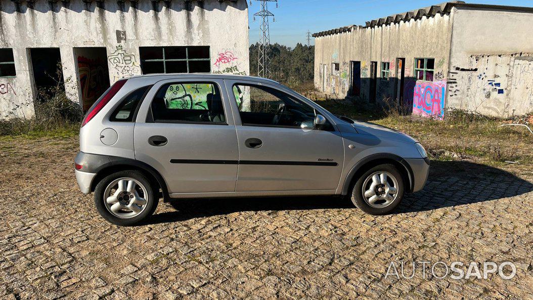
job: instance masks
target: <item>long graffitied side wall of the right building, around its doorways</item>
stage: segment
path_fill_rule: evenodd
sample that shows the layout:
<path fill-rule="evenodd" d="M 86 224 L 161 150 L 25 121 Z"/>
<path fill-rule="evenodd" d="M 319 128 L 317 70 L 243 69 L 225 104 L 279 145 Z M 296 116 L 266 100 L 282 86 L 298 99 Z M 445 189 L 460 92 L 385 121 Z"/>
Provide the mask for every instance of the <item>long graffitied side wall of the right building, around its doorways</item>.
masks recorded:
<path fill-rule="evenodd" d="M 391 78 L 389 80 L 377 79 L 376 100 L 379 102 L 386 98 L 394 98 L 395 60 L 405 58 L 404 101 L 409 103 L 414 101 L 415 106 L 422 105 L 418 102 L 426 101 L 430 103 L 430 109 L 440 115 L 445 105 L 445 96 L 441 93 L 443 86 L 446 91 L 451 26 L 450 15 L 437 14 L 434 17 L 423 17 L 421 20 L 411 19 L 408 22 L 374 28 L 355 27 L 348 33 L 317 37 L 315 39 L 314 84 L 318 90 L 322 90 L 324 78 L 320 66 L 326 64 L 325 92 L 335 98 L 344 98 L 350 85 L 350 61 L 361 61 L 361 95 L 358 100 L 368 102 L 370 62 L 378 63 L 377 77 L 381 71 L 381 62 L 390 62 Z M 414 79 L 415 58 L 435 59 L 435 75 L 439 74 L 435 82 L 417 82 Z M 331 74 L 332 62 L 340 63 L 338 75 Z M 431 91 L 425 93 L 425 90 Z"/>

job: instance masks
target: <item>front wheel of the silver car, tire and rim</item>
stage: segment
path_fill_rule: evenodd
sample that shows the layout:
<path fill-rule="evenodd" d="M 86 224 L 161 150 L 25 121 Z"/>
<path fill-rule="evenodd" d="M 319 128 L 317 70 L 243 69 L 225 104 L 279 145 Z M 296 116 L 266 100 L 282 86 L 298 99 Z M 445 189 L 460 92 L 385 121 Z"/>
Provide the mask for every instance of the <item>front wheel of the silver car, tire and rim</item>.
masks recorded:
<path fill-rule="evenodd" d="M 385 174 L 386 184 L 383 184 L 382 174 Z M 353 185 L 351 200 L 367 214 L 384 215 L 400 204 L 404 192 L 405 186 L 400 171 L 394 165 L 383 164 L 370 168 L 359 177 Z"/>

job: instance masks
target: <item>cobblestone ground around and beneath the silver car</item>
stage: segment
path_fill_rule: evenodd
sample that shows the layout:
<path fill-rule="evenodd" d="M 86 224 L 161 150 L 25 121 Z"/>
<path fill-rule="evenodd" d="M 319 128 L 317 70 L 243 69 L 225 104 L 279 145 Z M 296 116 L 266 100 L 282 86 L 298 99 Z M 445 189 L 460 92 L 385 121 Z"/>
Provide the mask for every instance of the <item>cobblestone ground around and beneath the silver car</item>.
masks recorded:
<path fill-rule="evenodd" d="M 76 186 L 76 139 L 7 143 L 6 299 L 533 298 L 533 184 L 497 168 L 433 162 L 426 188 L 387 216 L 327 197 L 182 200 L 120 228 Z M 511 261 L 516 276 L 385 279 L 391 261 L 406 275 L 413 261 Z"/>

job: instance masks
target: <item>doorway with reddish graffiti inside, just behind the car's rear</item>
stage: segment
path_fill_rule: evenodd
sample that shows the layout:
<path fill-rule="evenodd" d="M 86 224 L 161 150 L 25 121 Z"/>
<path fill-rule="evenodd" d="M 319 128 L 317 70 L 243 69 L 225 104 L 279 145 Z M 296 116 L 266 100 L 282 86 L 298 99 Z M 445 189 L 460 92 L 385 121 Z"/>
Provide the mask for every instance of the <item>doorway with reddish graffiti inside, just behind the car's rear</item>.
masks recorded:
<path fill-rule="evenodd" d="M 87 111 L 93 103 L 109 88 L 109 68 L 106 47 L 74 48 L 76 57 L 79 95 L 83 111 Z"/>

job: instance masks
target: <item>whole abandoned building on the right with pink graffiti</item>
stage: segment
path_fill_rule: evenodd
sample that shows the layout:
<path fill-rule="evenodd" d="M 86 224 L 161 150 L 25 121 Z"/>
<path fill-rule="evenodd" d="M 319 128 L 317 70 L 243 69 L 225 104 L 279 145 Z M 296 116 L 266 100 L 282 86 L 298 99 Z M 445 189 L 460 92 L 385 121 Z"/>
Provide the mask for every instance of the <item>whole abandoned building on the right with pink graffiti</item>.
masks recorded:
<path fill-rule="evenodd" d="M 533 7 L 447 2 L 316 33 L 314 85 L 335 98 L 510 117 L 533 111 Z"/>

